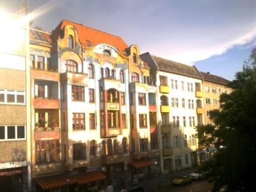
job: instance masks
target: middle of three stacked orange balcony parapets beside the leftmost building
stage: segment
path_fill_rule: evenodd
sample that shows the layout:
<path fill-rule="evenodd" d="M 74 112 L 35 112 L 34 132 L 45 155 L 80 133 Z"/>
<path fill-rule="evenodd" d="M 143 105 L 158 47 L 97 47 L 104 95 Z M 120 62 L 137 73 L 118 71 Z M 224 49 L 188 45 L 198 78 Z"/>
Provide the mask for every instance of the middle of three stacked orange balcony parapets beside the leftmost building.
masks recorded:
<path fill-rule="evenodd" d="M 60 99 L 34 99 L 35 109 L 60 109 Z"/>

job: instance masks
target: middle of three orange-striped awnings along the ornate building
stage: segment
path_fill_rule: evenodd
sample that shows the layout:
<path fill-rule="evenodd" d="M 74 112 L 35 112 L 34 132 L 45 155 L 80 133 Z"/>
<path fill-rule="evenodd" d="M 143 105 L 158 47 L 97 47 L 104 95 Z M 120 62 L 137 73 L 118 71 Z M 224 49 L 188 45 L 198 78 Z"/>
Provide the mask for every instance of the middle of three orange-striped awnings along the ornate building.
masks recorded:
<path fill-rule="evenodd" d="M 77 175 L 73 175 L 73 177 L 79 185 L 87 184 L 96 180 L 104 180 L 107 178 L 98 171 L 78 173 Z"/>

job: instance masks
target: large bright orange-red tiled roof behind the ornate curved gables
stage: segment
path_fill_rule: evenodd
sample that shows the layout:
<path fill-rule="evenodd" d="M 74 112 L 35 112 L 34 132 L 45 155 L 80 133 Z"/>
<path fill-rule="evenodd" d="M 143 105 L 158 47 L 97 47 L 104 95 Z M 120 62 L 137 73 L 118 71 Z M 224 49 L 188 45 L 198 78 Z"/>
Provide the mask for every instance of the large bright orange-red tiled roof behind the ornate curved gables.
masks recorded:
<path fill-rule="evenodd" d="M 83 24 L 77 24 L 69 20 L 62 20 L 56 29 L 52 32 L 54 39 L 58 39 L 61 34 L 61 30 L 67 25 L 72 25 L 77 29 L 79 42 L 86 47 L 95 46 L 97 44 L 109 44 L 118 49 L 118 51 L 124 53 L 128 45 L 120 36 L 111 35 L 97 29 L 83 26 Z"/>

